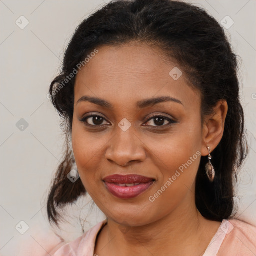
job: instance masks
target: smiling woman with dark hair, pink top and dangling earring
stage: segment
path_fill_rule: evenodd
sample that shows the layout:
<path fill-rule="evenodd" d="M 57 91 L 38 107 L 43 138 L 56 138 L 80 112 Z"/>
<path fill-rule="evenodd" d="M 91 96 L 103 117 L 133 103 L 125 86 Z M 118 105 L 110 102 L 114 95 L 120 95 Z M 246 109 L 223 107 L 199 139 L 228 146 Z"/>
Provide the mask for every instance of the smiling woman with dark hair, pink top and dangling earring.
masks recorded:
<path fill-rule="evenodd" d="M 51 254 L 256 254 L 256 227 L 233 212 L 247 155 L 236 55 L 203 9 L 110 2 L 77 27 L 49 93 L 67 124 L 49 221 L 86 192 L 106 215 Z"/>

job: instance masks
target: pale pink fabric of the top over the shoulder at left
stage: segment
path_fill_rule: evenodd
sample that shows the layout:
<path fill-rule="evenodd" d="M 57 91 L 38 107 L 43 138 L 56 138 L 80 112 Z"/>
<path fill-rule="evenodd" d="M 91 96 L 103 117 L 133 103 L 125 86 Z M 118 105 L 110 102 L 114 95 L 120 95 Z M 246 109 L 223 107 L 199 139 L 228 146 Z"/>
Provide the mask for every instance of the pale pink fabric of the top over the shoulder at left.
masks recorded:
<path fill-rule="evenodd" d="M 75 240 L 64 244 L 59 249 L 53 251 L 53 256 L 86 256 L 93 255 L 96 236 L 99 230 L 107 223 L 107 220 L 103 220 L 90 228 L 80 237 Z"/>

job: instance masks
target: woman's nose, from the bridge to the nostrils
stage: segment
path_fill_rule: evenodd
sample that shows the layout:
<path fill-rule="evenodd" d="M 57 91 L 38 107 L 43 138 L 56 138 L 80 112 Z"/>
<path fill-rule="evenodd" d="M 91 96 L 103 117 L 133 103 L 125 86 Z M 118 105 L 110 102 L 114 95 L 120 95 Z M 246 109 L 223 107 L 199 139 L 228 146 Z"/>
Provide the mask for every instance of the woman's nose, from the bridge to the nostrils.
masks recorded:
<path fill-rule="evenodd" d="M 127 166 L 131 162 L 142 162 L 146 158 L 144 146 L 131 128 L 126 131 L 119 129 L 109 141 L 105 157 L 121 166 Z"/>

